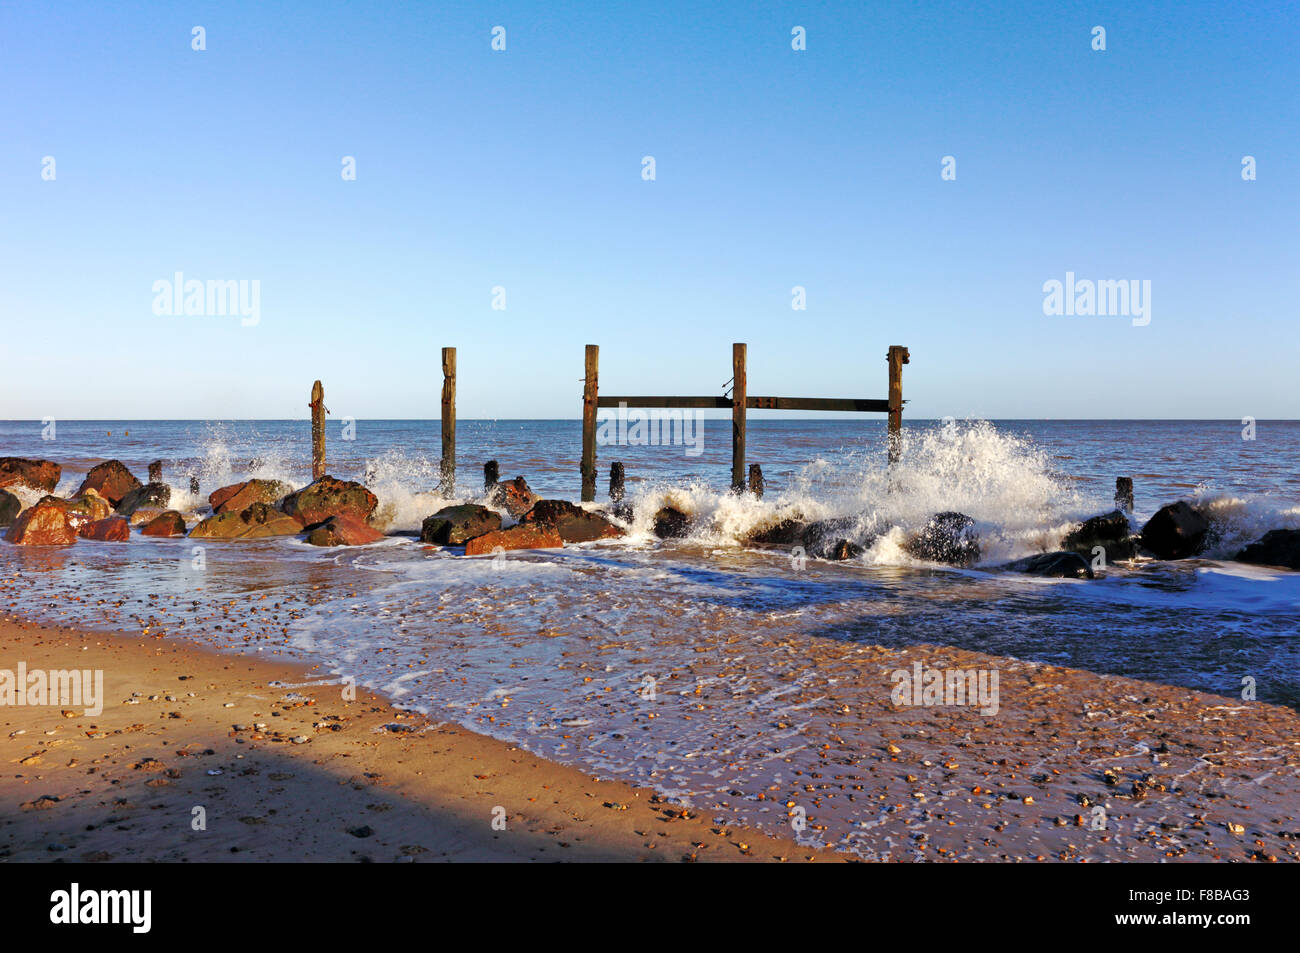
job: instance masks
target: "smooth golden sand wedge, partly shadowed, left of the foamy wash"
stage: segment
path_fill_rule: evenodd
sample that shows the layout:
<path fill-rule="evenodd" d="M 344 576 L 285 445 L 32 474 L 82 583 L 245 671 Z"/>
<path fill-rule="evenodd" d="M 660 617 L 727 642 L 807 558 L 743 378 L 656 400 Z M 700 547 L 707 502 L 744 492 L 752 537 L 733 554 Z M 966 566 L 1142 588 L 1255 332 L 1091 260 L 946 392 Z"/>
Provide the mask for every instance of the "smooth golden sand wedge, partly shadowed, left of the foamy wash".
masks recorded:
<path fill-rule="evenodd" d="M 99 715 L 0 707 L 6 862 L 841 859 L 346 701 L 306 667 L 13 616 L 0 645 L 0 668 L 103 670 L 105 696 Z"/>

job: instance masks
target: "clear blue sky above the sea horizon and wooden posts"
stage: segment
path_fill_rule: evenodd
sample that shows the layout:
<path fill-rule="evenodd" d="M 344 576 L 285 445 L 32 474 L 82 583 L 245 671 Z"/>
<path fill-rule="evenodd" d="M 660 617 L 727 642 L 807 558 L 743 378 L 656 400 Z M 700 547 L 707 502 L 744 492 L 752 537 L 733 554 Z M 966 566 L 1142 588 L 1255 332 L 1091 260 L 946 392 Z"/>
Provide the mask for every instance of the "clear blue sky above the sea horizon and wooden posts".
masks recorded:
<path fill-rule="evenodd" d="M 443 345 L 462 417 L 573 417 L 586 343 L 604 393 L 715 394 L 733 341 L 809 397 L 906 345 L 910 416 L 1300 417 L 1297 10 L 8 0 L 0 419 L 300 417 L 316 377 L 436 417 Z M 153 313 L 176 272 L 259 322 Z M 1066 272 L 1150 322 L 1045 316 Z"/>

